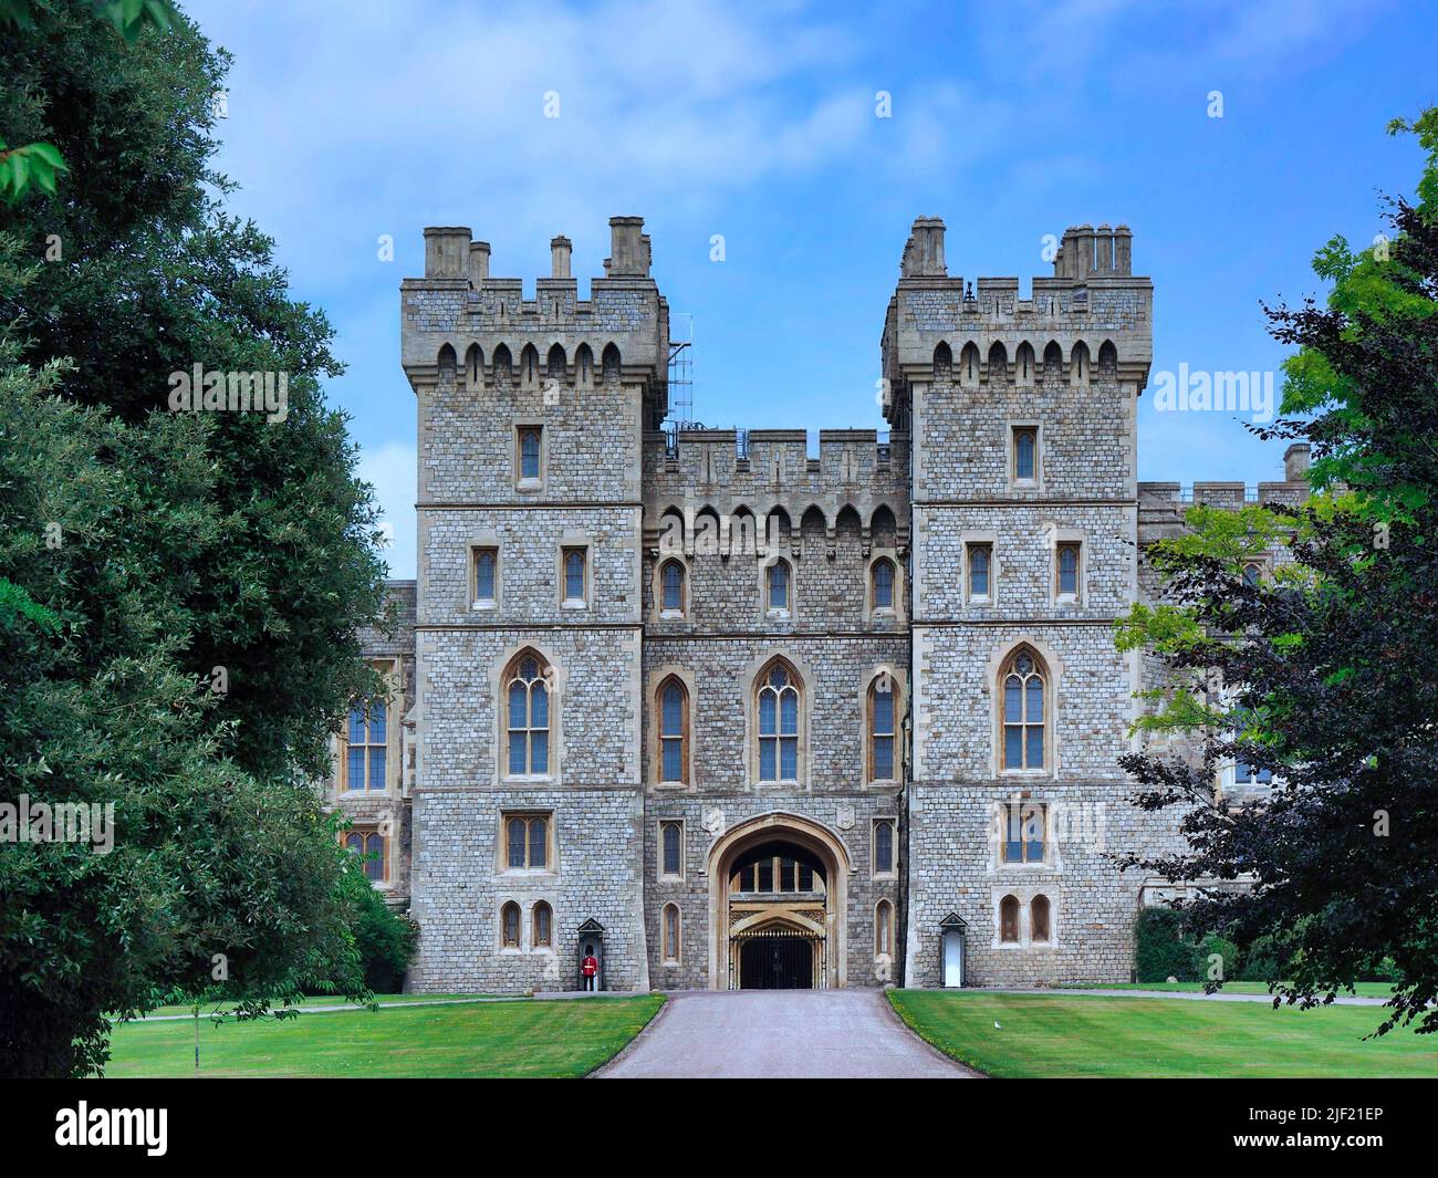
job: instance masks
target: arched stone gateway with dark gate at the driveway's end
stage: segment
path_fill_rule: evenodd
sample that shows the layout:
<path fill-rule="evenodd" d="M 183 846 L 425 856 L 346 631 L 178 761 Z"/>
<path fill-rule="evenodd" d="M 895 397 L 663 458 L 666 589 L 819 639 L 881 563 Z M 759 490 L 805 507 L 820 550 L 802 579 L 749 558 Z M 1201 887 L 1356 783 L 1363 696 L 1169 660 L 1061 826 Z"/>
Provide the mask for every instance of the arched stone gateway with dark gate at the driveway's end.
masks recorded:
<path fill-rule="evenodd" d="M 709 984 L 828 990 L 847 982 L 848 873 L 843 841 L 797 814 L 764 814 L 709 850 Z"/>

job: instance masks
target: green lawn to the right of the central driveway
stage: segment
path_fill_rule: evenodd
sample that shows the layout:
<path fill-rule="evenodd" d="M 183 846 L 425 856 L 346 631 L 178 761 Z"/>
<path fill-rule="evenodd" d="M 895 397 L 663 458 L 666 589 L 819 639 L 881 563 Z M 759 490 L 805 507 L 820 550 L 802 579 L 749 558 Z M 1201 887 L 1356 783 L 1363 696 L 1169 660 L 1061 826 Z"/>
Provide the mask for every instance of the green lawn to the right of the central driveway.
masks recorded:
<path fill-rule="evenodd" d="M 889 997 L 925 1040 L 989 1076 L 1438 1076 L 1438 1036 L 1362 1038 L 1382 1021 L 1378 1007 L 978 990 Z"/>

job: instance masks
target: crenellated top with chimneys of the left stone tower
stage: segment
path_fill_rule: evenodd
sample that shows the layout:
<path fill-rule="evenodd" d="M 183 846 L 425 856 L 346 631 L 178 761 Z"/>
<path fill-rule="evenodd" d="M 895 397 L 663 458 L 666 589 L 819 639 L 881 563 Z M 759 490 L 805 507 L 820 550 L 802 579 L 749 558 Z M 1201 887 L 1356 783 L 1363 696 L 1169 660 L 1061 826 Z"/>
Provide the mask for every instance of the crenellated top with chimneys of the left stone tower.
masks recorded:
<path fill-rule="evenodd" d="M 469 387 L 587 391 L 605 381 L 643 388 L 647 419 L 667 413 L 669 303 L 650 276 L 643 217 L 610 219 L 604 276 L 581 299 L 572 243 L 549 242 L 551 272 L 523 296 L 523 279 L 490 275 L 489 242 L 464 226 L 424 230 L 424 278 L 400 286 L 401 364 L 410 384 L 453 373 Z"/>

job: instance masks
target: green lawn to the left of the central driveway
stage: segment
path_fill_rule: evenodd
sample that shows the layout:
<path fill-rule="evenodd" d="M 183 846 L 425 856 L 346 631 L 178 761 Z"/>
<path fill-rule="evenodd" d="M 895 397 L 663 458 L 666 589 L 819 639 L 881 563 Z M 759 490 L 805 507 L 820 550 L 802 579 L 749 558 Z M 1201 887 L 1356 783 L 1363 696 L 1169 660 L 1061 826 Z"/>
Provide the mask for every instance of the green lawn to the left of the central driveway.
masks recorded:
<path fill-rule="evenodd" d="M 519 1000 L 200 1020 L 201 1076 L 584 1076 L 663 1005 L 634 998 Z M 194 1021 L 115 1028 L 106 1076 L 194 1076 Z"/>

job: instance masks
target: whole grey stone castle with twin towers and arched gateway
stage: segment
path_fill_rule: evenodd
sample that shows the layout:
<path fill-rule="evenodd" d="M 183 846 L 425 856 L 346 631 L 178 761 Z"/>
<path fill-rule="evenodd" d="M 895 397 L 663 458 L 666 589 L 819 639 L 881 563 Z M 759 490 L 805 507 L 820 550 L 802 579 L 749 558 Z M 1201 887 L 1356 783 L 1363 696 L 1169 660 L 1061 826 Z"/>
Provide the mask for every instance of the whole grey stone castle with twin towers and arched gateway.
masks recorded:
<path fill-rule="evenodd" d="M 1129 803 L 1160 667 L 1112 623 L 1185 506 L 1136 479 L 1129 230 L 1070 229 L 1021 298 L 916 220 L 890 432 L 810 457 L 802 430 L 661 429 L 669 305 L 643 222 L 610 227 L 587 301 L 568 239 L 526 299 L 469 229 L 427 229 L 401 285 L 418 580 L 367 636 L 391 696 L 331 788 L 418 922 L 408 985 L 575 990 L 590 951 L 607 990 L 1127 981 L 1171 889 L 1110 854 L 1178 836 Z"/>

